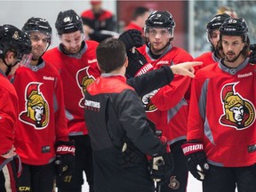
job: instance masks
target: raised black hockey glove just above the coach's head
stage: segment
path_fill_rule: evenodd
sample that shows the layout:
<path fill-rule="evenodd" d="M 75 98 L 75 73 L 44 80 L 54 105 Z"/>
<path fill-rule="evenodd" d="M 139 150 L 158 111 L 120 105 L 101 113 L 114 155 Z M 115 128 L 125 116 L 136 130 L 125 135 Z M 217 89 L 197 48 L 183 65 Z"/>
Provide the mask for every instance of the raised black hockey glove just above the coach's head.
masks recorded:
<path fill-rule="evenodd" d="M 124 43 L 126 52 L 132 50 L 132 47 L 140 47 L 143 45 L 141 32 L 137 29 L 125 31 L 118 39 Z"/>

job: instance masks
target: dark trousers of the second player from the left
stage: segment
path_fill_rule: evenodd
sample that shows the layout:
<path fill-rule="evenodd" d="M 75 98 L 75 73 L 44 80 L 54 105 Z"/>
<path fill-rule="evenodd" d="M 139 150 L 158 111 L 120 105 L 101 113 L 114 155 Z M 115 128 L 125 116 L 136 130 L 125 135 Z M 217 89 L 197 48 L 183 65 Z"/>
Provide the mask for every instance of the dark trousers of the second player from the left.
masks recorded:
<path fill-rule="evenodd" d="M 55 173 L 54 162 L 44 165 L 22 164 L 22 172 L 18 179 L 19 191 L 51 192 Z"/>

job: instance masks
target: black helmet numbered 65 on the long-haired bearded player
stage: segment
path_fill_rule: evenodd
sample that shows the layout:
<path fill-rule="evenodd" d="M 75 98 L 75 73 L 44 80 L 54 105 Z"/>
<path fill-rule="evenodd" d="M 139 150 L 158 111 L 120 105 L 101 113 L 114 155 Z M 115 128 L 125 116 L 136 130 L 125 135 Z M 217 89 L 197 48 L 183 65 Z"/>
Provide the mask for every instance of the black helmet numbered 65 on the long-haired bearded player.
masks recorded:
<path fill-rule="evenodd" d="M 243 18 L 228 18 L 220 27 L 220 36 L 248 36 L 248 26 Z"/>

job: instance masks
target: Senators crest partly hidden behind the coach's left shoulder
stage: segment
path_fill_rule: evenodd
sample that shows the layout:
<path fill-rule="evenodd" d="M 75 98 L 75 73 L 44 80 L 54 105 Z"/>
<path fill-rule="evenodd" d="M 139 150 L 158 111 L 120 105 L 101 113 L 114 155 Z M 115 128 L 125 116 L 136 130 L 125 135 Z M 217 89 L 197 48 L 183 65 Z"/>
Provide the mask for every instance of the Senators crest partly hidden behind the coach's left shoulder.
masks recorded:
<path fill-rule="evenodd" d="M 81 70 L 77 71 L 76 74 L 76 83 L 79 87 L 81 87 L 81 92 L 83 95 L 83 98 L 79 101 L 78 105 L 81 108 L 84 108 L 84 93 L 86 92 L 87 86 L 89 84 L 92 84 L 94 82 L 95 78 L 94 76 L 91 76 L 88 72 L 89 67 L 82 68 Z"/>

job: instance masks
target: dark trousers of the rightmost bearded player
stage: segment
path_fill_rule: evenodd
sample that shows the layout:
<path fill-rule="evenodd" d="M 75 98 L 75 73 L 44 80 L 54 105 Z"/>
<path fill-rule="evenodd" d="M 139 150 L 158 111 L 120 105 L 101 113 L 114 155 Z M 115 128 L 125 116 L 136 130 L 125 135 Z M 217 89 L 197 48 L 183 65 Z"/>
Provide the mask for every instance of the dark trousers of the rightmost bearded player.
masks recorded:
<path fill-rule="evenodd" d="M 203 181 L 204 192 L 256 191 L 256 165 L 246 167 L 218 167 L 210 164 Z"/>

